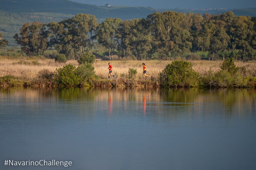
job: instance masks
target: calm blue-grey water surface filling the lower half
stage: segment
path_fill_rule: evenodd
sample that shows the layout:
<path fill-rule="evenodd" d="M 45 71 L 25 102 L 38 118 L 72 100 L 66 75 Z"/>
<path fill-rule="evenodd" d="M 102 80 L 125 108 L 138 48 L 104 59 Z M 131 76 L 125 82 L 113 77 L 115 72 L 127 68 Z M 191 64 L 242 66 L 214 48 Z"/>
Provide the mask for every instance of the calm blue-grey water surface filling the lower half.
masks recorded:
<path fill-rule="evenodd" d="M 255 106 L 254 89 L 0 88 L 0 169 L 255 170 Z"/>

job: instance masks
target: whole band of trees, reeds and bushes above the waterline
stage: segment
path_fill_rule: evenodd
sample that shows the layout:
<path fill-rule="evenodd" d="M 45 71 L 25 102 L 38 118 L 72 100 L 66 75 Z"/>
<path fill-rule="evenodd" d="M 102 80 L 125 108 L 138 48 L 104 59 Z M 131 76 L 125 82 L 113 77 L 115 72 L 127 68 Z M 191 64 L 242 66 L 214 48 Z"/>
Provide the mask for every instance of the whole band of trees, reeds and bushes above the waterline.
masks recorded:
<path fill-rule="evenodd" d="M 13 36 L 20 48 L 0 51 L 1 84 L 254 88 L 255 37 L 256 18 L 233 12 L 155 12 L 101 24 L 80 13 L 58 23 L 24 23 Z M 107 80 L 108 62 L 117 79 Z M 151 76 L 145 81 L 142 62 Z"/>

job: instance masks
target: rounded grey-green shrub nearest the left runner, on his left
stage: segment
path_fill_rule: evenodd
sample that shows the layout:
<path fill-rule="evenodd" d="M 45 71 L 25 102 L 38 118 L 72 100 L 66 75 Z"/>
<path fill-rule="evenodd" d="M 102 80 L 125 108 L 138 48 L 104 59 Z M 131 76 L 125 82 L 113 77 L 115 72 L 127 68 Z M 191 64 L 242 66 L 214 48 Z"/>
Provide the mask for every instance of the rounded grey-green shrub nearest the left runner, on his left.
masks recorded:
<path fill-rule="evenodd" d="M 80 76 L 86 83 L 91 82 L 92 80 L 97 79 L 97 75 L 95 74 L 94 67 L 91 63 L 81 64 L 79 65 L 75 73 Z"/>

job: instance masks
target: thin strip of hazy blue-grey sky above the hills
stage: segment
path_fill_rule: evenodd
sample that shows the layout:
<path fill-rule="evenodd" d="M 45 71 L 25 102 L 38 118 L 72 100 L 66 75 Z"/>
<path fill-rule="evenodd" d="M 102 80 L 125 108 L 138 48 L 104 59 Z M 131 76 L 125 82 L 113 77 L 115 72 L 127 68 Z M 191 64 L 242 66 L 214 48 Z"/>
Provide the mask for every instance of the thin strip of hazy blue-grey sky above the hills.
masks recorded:
<path fill-rule="evenodd" d="M 256 0 L 71 0 L 84 4 L 97 6 L 109 5 L 126 5 L 126 6 L 143 6 L 162 9 L 241 9 L 255 8 Z"/>

